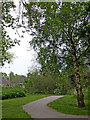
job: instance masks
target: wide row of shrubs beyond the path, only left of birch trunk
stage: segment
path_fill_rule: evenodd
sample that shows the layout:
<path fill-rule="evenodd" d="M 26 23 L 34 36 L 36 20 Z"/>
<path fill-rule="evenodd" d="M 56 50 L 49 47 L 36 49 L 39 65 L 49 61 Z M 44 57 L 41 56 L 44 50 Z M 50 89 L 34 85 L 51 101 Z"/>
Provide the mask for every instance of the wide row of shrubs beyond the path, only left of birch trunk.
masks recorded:
<path fill-rule="evenodd" d="M 31 94 L 66 94 L 69 89 L 69 78 L 63 73 L 52 75 L 32 75 L 25 79 L 25 91 Z"/>

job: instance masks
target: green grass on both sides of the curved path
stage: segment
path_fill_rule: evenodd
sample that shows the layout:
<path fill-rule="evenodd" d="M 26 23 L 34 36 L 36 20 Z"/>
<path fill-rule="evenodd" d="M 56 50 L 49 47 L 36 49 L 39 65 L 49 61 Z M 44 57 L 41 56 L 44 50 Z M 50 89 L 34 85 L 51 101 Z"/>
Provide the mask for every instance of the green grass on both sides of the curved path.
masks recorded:
<path fill-rule="evenodd" d="M 69 92 L 69 94 L 71 93 Z M 76 94 L 64 95 L 64 97 L 53 101 L 48 106 L 65 114 L 88 115 L 88 108 L 90 108 L 90 104 L 88 102 L 89 97 L 87 90 L 84 92 L 84 95 L 85 95 L 84 108 L 78 108 Z M 22 109 L 23 105 L 47 96 L 51 96 L 51 95 L 35 94 L 35 95 L 29 95 L 27 97 L 2 100 L 2 117 L 31 118 L 31 116 L 28 115 Z"/>

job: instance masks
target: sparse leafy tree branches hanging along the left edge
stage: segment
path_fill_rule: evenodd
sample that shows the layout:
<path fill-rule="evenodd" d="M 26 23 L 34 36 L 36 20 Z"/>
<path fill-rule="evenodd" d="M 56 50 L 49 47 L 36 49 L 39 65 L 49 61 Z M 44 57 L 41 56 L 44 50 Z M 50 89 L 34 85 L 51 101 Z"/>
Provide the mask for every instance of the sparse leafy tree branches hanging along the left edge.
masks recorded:
<path fill-rule="evenodd" d="M 3 66 L 5 62 L 10 63 L 14 58 L 8 50 L 19 44 L 18 40 L 12 40 L 7 34 L 7 28 L 12 27 L 14 29 L 15 18 L 11 15 L 11 8 L 15 8 L 12 1 L 0 1 L 0 66 Z"/>

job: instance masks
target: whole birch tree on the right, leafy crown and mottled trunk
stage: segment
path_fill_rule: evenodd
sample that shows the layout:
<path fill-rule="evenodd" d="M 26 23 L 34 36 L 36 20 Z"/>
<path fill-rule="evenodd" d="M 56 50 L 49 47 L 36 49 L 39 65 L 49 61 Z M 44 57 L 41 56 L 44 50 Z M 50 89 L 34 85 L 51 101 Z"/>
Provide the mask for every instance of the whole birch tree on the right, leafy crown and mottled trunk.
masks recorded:
<path fill-rule="evenodd" d="M 68 62 L 70 65 L 69 60 L 72 61 L 76 77 L 78 107 L 84 107 L 79 66 L 87 59 L 89 53 L 90 2 L 62 3 L 62 5 L 59 2 L 23 2 L 23 5 L 26 8 L 23 15 L 28 18 L 28 27 L 33 35 L 30 44 L 40 53 L 42 49 L 44 54 L 57 53 L 60 56 L 59 60 L 64 63 Z M 46 48 L 48 52 L 45 51 Z M 46 57 L 47 60 L 49 58 L 51 57 Z M 41 59 L 41 64 L 43 60 Z"/>

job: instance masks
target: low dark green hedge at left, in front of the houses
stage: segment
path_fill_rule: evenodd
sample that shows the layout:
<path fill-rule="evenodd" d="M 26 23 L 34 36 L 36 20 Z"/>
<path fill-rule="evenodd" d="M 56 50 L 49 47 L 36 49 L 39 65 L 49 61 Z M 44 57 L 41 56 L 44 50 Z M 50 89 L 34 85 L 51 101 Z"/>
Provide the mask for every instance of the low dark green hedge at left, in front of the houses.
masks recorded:
<path fill-rule="evenodd" d="M 25 92 L 21 88 L 3 88 L 2 89 L 2 99 L 25 97 Z"/>

